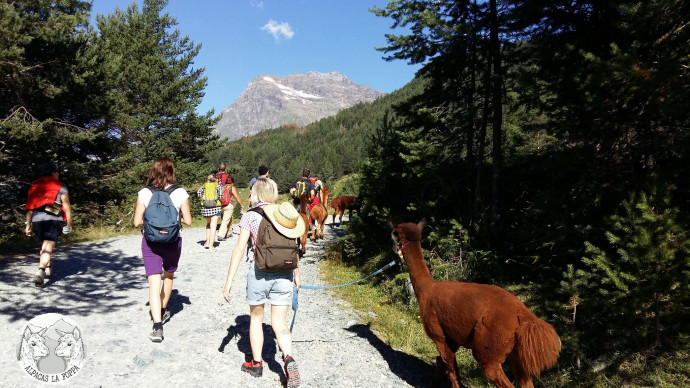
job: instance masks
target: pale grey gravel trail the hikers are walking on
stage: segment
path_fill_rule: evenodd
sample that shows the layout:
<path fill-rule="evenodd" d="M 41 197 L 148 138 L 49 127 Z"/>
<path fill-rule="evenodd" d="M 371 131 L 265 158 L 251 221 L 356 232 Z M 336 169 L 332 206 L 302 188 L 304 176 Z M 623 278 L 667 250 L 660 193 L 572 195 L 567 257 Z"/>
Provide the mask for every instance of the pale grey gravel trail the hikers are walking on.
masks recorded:
<path fill-rule="evenodd" d="M 237 225 L 234 226 L 237 233 Z M 203 228 L 182 230 L 182 258 L 169 304 L 165 340 L 148 339 L 148 287 L 141 236 L 59 245 L 54 273 L 36 288 L 36 257 L 0 259 L 0 377 L 5 387 L 43 386 L 17 362 L 17 344 L 27 322 L 45 313 L 72 319 L 86 347 L 79 372 L 66 382 L 79 387 L 281 387 L 280 350 L 264 320 L 264 373 L 240 371 L 250 353 L 249 309 L 244 301 L 246 270 L 235 278 L 230 303 L 222 287 L 237 234 L 203 248 Z M 303 284 L 320 285 L 318 262 L 342 229 L 326 225 L 326 239 L 309 242 L 301 261 Z M 38 248 L 37 248 L 38 249 Z M 292 312 L 288 321 L 292 319 Z M 302 290 L 293 330 L 294 357 L 304 387 L 420 386 L 430 366 L 390 348 L 347 303 L 329 291 Z"/>

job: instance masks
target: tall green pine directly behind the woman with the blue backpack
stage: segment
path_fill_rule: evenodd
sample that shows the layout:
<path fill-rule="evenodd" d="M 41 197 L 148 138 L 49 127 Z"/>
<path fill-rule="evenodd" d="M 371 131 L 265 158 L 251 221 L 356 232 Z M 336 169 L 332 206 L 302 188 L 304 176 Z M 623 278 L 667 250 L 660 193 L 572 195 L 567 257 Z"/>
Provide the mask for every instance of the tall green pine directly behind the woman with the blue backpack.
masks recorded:
<path fill-rule="evenodd" d="M 141 184 L 150 162 L 167 156 L 176 161 L 179 179 L 191 180 L 200 164 L 222 144 L 212 133 L 213 111 L 195 111 L 207 79 L 194 68 L 201 45 L 174 29 L 174 17 L 163 12 L 166 0 L 145 0 L 127 10 L 97 17 L 92 44 L 102 64 L 99 77 L 103 117 L 99 126 L 114 145 L 102 166 L 111 191 Z M 189 166 L 185 166 L 188 164 Z"/>

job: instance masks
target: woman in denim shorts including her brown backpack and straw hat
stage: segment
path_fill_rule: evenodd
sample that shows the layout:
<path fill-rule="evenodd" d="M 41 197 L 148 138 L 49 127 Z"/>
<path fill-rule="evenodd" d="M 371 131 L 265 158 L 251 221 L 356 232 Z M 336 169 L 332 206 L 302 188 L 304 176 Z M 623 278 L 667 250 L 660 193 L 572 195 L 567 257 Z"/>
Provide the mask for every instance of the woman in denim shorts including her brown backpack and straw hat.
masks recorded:
<path fill-rule="evenodd" d="M 251 237 L 249 250 L 246 301 L 249 304 L 249 343 L 252 358 L 241 370 L 254 377 L 263 374 L 264 305 L 271 306 L 271 326 L 278 347 L 283 352 L 283 370 L 287 388 L 300 384 L 297 363 L 293 358 L 292 334 L 287 325 L 287 313 L 292 305 L 293 284 L 299 289 L 299 250 L 297 238 L 306 225 L 299 213 L 288 203 L 276 205 L 278 185 L 270 178 L 258 178 L 251 190 L 255 207 L 244 213 L 239 222 L 240 235 L 232 251 L 223 297 L 231 299 L 231 288 L 237 268 L 242 261 Z M 272 248 L 278 249 L 272 249 Z M 277 264 L 276 264 L 277 263 Z"/>

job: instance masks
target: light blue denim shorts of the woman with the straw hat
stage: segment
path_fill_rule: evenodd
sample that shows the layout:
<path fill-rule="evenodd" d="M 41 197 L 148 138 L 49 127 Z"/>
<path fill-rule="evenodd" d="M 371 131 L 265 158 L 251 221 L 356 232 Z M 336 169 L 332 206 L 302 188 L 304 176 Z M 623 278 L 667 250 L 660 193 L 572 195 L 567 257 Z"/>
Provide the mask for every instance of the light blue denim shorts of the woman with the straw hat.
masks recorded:
<path fill-rule="evenodd" d="M 292 304 L 292 271 L 266 272 L 251 263 L 247 271 L 247 304 L 269 303 L 275 306 Z"/>

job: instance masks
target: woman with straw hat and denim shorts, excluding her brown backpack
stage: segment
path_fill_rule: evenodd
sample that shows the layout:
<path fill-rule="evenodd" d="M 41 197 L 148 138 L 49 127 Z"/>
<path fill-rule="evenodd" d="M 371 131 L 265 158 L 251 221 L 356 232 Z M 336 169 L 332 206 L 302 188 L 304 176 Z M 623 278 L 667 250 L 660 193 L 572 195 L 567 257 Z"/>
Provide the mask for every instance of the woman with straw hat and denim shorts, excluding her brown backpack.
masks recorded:
<path fill-rule="evenodd" d="M 290 203 L 280 206 L 275 204 L 278 199 L 278 186 L 270 178 L 259 178 L 251 189 L 250 206 L 260 207 L 271 224 L 285 237 L 298 238 L 304 234 L 306 225 L 299 213 Z M 244 213 L 239 222 L 240 236 L 232 251 L 228 276 L 223 287 L 223 297 L 230 301 L 232 280 L 237 267 L 246 250 L 249 237 L 256 246 L 259 225 L 263 217 L 256 212 Z M 251 251 L 250 251 L 251 252 Z M 276 335 L 276 341 L 283 352 L 284 370 L 287 376 L 287 387 L 297 387 L 300 383 L 297 364 L 292 358 L 292 335 L 287 325 L 287 313 L 292 303 L 293 282 L 300 287 L 299 267 L 288 272 L 266 272 L 254 265 L 254 252 L 249 254 L 249 269 L 247 271 L 247 303 L 249 304 L 249 342 L 252 348 L 252 359 L 242 364 L 242 371 L 254 377 L 263 373 L 263 319 L 264 304 L 271 305 L 271 326 Z"/>

